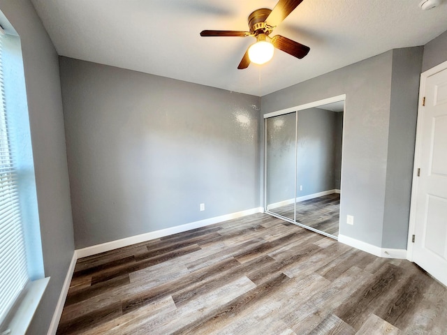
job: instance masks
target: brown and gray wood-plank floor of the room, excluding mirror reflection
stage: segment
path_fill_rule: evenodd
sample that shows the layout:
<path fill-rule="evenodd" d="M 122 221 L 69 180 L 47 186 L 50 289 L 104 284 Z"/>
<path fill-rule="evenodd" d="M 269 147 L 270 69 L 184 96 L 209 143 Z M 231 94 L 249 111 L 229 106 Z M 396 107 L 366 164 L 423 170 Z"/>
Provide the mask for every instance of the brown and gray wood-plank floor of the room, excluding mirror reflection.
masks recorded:
<path fill-rule="evenodd" d="M 254 214 L 78 260 L 57 334 L 447 334 L 447 289 Z"/>

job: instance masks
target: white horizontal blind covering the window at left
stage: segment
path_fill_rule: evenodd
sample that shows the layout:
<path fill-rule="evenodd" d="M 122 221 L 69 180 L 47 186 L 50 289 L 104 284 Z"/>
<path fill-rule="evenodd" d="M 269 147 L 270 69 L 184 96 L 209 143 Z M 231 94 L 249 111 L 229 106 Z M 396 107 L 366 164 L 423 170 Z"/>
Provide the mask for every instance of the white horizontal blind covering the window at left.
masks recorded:
<path fill-rule="evenodd" d="M 0 323 L 28 281 L 14 148 L 8 135 L 3 83 L 3 42 L 0 34 Z"/>

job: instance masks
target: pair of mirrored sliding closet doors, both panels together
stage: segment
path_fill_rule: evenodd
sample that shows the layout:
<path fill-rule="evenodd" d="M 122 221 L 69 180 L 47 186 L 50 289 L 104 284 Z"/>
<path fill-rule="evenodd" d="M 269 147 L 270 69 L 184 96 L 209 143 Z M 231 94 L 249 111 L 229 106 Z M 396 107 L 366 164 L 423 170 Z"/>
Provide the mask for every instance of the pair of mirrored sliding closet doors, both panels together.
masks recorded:
<path fill-rule="evenodd" d="M 265 203 L 269 214 L 337 238 L 343 117 L 344 101 L 266 115 Z"/>

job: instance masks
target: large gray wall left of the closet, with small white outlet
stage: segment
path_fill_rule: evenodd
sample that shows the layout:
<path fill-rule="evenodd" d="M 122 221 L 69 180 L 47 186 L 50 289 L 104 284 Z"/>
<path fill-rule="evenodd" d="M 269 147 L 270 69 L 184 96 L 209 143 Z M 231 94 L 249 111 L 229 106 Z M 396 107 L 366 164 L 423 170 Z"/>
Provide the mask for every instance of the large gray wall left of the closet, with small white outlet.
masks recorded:
<path fill-rule="evenodd" d="M 76 248 L 260 206 L 258 97 L 65 57 L 60 69 Z"/>

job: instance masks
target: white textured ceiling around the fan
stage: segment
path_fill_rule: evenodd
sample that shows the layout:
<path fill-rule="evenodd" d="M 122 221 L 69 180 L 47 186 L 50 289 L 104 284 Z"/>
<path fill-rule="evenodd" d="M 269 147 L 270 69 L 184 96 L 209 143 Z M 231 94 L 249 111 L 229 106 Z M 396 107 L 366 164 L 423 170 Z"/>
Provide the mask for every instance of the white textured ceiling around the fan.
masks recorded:
<path fill-rule="evenodd" d="M 57 52 L 230 91 L 263 96 L 393 48 L 425 45 L 447 30 L 447 1 L 304 0 L 272 36 L 310 47 L 304 59 L 279 50 L 237 70 L 254 38 L 199 36 L 247 30 L 247 17 L 277 0 L 31 0 Z"/>

